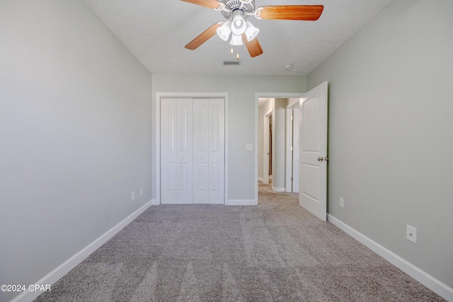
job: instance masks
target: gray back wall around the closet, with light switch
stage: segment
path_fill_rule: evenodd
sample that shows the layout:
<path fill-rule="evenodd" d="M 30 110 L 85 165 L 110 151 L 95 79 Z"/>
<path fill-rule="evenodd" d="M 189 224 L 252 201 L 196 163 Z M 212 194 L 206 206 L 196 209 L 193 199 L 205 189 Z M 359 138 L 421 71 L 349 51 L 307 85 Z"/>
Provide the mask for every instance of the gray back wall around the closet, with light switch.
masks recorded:
<path fill-rule="evenodd" d="M 153 108 L 156 93 L 228 93 L 229 199 L 255 199 L 255 93 L 306 91 L 306 76 L 159 76 L 153 75 Z M 154 110 L 155 112 L 155 110 Z M 157 113 L 156 113 L 157 114 Z M 155 125 L 154 125 L 155 126 Z M 156 151 L 156 127 L 153 129 Z M 253 150 L 256 146 L 253 146 Z M 153 167 L 155 158 L 153 156 Z M 153 168 L 153 177 L 156 171 Z M 153 179 L 153 192 L 156 181 Z M 153 193 L 153 198 L 156 198 Z"/>

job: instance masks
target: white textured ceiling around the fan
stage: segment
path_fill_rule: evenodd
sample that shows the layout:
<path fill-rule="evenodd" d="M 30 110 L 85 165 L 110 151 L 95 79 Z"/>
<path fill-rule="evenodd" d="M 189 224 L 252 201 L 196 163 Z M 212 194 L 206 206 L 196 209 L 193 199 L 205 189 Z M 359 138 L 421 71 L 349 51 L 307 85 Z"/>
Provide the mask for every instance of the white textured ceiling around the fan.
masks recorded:
<path fill-rule="evenodd" d="M 322 4 L 318 21 L 249 21 L 260 29 L 264 53 L 251 58 L 239 47 L 240 66 L 229 42 L 217 35 L 197 48 L 184 45 L 217 21 L 222 13 L 180 0 L 82 0 L 151 74 L 306 75 L 359 30 L 391 0 L 256 0 L 256 6 Z M 285 69 L 292 64 L 291 69 Z"/>

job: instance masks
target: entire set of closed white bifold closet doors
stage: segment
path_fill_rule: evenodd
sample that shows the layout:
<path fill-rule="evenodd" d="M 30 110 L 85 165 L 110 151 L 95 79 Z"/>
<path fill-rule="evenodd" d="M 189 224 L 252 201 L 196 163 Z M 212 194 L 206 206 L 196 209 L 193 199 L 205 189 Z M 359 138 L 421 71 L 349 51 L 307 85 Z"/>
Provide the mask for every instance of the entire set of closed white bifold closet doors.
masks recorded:
<path fill-rule="evenodd" d="M 161 203 L 224 204 L 223 98 L 161 98 Z"/>

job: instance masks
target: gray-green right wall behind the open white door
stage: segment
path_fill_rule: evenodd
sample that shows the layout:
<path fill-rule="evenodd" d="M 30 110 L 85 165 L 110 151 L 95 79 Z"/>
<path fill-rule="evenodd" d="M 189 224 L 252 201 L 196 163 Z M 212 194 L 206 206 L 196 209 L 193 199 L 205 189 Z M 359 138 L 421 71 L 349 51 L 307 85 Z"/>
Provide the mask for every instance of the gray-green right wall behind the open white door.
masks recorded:
<path fill-rule="evenodd" d="M 308 76 L 329 82 L 329 214 L 450 287 L 452 12 L 395 0 Z"/>

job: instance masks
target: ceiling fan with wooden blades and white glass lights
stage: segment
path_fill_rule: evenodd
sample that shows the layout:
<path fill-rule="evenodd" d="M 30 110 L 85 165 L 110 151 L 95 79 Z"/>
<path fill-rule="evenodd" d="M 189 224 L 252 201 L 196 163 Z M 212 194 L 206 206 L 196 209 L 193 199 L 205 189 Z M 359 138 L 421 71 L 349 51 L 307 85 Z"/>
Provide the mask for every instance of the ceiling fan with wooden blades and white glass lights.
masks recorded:
<path fill-rule="evenodd" d="M 221 11 L 226 21 L 214 23 L 200 35 L 185 45 L 188 50 L 196 50 L 216 33 L 227 41 L 230 39 L 231 54 L 233 46 L 245 44 L 251 57 L 263 54 L 256 35 L 259 29 L 247 21 L 250 16 L 265 20 L 316 21 L 321 16 L 322 5 L 275 5 L 255 7 L 255 0 L 181 0 Z M 236 55 L 239 59 L 239 53 Z"/>

